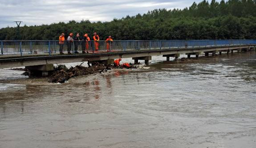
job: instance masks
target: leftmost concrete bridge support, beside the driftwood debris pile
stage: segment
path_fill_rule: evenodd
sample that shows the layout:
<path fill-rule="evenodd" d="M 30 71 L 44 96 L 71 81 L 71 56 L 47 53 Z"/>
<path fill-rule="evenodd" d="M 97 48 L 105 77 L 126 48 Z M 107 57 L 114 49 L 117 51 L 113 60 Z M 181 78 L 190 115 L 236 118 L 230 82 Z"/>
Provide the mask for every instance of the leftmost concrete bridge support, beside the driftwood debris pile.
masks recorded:
<path fill-rule="evenodd" d="M 25 68 L 28 69 L 28 76 L 29 77 L 33 77 L 33 76 L 47 77 L 54 70 L 53 64 L 26 66 Z"/>

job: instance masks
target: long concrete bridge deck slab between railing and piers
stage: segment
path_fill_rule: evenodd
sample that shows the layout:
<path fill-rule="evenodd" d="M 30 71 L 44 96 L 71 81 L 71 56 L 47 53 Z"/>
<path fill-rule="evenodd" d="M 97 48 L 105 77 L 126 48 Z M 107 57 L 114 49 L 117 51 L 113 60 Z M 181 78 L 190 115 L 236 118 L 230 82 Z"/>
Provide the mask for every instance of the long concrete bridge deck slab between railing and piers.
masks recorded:
<path fill-rule="evenodd" d="M 131 57 L 144 57 L 144 56 L 159 56 L 159 55 L 172 55 L 172 54 L 193 54 L 200 52 L 225 52 L 232 50 L 251 49 L 255 48 L 256 44 L 248 45 L 232 45 L 232 46 L 217 46 L 217 47 L 197 47 L 197 48 L 171 48 L 171 49 L 139 49 L 129 51 L 111 51 L 111 52 L 94 52 L 85 54 L 57 54 L 48 53 L 40 54 L 27 54 L 6 55 L 0 56 L 0 68 L 11 68 L 20 66 L 33 66 L 44 64 L 59 64 L 59 63 L 73 63 L 83 61 L 96 61 L 96 60 L 109 60 L 117 58 L 131 58 Z"/>

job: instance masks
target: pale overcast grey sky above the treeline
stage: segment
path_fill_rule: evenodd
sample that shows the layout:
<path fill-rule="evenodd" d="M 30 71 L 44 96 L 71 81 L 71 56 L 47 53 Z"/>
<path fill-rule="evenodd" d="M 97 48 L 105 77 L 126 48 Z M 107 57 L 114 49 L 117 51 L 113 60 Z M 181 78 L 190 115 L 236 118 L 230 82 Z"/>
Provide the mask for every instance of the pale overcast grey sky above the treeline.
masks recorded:
<path fill-rule="evenodd" d="M 158 8 L 185 8 L 194 1 L 202 0 L 0 0 L 0 28 L 16 26 L 13 21 L 23 21 L 21 26 L 69 20 L 110 21 Z"/>

